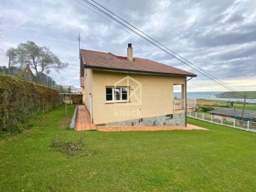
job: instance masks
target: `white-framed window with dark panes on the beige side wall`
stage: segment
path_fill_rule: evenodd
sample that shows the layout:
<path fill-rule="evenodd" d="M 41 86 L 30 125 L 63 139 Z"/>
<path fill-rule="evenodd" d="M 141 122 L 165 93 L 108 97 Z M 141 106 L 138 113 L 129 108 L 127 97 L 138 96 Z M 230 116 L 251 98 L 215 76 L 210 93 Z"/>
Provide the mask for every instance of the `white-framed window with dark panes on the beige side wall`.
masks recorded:
<path fill-rule="evenodd" d="M 127 102 L 128 87 L 106 87 L 106 102 Z"/>

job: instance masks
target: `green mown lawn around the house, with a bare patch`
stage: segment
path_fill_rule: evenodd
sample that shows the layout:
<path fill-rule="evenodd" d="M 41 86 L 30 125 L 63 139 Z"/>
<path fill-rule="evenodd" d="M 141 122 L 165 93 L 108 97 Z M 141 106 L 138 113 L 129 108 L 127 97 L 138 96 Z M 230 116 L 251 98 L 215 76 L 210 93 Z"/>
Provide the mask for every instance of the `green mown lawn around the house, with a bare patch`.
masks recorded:
<path fill-rule="evenodd" d="M 74 107 L 37 116 L 0 140 L 0 191 L 256 191 L 256 134 L 188 119 L 209 131 L 75 132 Z M 53 139 L 82 141 L 68 158 Z"/>

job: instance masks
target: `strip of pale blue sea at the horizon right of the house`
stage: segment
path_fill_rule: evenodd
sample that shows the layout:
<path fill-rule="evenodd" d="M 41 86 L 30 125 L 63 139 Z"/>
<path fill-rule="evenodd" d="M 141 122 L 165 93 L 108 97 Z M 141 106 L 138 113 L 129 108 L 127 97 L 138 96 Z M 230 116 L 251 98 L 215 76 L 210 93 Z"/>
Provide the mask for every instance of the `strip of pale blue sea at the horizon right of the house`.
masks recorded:
<path fill-rule="evenodd" d="M 243 102 L 244 99 L 235 98 L 218 98 L 217 94 L 221 92 L 187 92 L 187 98 L 191 100 L 204 99 L 204 100 L 224 100 L 224 101 L 239 101 Z M 181 98 L 181 92 L 174 92 L 174 97 Z M 256 103 L 256 100 L 247 99 L 246 102 Z"/>

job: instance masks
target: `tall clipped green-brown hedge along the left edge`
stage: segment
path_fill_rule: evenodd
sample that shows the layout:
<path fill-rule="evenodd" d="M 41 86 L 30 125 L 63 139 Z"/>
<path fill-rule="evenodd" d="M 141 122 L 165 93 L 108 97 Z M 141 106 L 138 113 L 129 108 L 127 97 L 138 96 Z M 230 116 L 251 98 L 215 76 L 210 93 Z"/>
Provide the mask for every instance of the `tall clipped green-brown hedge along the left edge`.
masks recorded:
<path fill-rule="evenodd" d="M 0 74 L 0 134 L 21 132 L 34 114 L 60 103 L 58 90 Z"/>

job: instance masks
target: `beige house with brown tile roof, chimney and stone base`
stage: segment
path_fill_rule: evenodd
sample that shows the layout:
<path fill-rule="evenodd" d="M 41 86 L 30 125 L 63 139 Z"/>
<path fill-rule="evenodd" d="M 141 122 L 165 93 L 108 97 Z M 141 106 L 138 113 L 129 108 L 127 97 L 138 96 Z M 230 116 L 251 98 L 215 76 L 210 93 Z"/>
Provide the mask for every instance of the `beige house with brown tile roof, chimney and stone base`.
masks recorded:
<path fill-rule="evenodd" d="M 127 57 L 80 50 L 82 102 L 92 122 L 101 126 L 184 126 L 186 79 L 196 77 L 169 65 L 134 58 L 132 44 Z M 181 98 L 174 100 L 174 86 L 181 87 Z"/>

